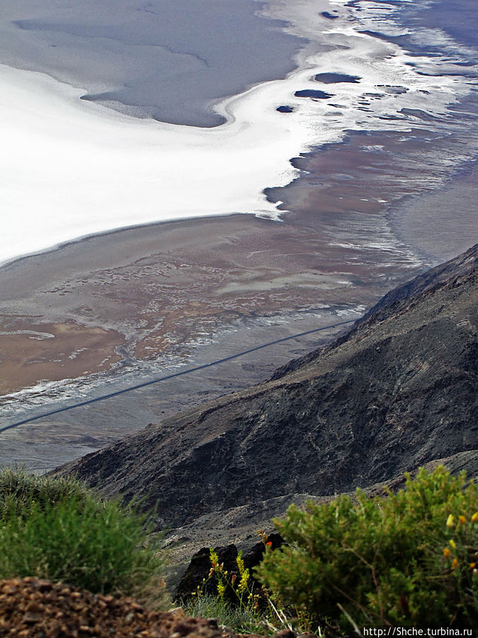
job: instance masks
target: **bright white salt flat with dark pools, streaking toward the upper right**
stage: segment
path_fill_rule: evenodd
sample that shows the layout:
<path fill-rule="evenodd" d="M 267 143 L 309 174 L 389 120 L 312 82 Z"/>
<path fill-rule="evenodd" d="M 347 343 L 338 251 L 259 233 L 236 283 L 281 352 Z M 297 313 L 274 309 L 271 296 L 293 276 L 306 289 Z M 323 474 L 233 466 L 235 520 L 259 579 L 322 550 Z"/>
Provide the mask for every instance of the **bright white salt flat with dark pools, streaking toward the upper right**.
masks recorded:
<path fill-rule="evenodd" d="M 394 130 L 409 130 L 417 118 L 404 109 L 442 117 L 470 91 L 460 75 L 423 74 L 436 67 L 435 58 L 416 56 L 408 65 L 397 45 L 363 33 L 366 18 L 349 20 L 343 2 L 319 8 L 327 7 L 339 7 L 341 19 L 324 20 L 310 0 L 269 6 L 309 44 L 284 79 L 215 103 L 225 119 L 215 128 L 126 116 L 81 100 L 82 87 L 1 67 L 0 261 L 130 225 L 227 213 L 278 216 L 263 189 L 297 177 L 291 157 L 348 129 L 385 130 L 392 121 Z M 331 70 L 360 83 L 329 84 L 327 100 L 295 96 L 317 89 L 314 75 Z M 278 113 L 283 103 L 293 112 Z"/>

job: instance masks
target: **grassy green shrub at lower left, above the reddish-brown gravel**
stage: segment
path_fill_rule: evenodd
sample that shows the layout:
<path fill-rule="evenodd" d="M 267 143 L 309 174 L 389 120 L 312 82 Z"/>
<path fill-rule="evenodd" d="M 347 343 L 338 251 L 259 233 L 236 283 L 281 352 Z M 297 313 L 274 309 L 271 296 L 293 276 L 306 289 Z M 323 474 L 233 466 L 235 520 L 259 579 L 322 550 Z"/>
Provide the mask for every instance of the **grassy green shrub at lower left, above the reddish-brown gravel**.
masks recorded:
<path fill-rule="evenodd" d="M 93 593 L 159 586 L 145 517 L 71 478 L 0 472 L 0 578 L 36 576 Z"/>

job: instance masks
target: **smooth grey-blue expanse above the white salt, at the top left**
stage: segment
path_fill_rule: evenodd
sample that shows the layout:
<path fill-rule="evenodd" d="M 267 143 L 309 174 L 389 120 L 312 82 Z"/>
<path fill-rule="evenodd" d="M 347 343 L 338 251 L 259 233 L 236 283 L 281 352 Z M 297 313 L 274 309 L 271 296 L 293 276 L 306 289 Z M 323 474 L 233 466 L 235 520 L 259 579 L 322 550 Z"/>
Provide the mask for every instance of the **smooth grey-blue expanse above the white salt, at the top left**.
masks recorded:
<path fill-rule="evenodd" d="M 140 118 L 215 126 L 211 103 L 295 67 L 300 39 L 256 0 L 4 0 L 0 62 Z"/>

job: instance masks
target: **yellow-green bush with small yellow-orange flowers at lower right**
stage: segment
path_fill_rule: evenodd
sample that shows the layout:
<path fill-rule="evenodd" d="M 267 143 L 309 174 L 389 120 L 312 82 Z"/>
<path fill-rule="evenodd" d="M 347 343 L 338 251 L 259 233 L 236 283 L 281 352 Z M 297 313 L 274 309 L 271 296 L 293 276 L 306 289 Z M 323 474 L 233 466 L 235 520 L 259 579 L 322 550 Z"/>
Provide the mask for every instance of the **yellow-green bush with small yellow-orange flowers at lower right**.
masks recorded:
<path fill-rule="evenodd" d="M 288 545 L 266 554 L 257 576 L 283 600 L 341 628 L 351 621 L 474 627 L 477 509 L 477 484 L 443 467 L 407 475 L 396 494 L 368 498 L 358 490 L 353 499 L 292 505 L 275 520 Z"/>

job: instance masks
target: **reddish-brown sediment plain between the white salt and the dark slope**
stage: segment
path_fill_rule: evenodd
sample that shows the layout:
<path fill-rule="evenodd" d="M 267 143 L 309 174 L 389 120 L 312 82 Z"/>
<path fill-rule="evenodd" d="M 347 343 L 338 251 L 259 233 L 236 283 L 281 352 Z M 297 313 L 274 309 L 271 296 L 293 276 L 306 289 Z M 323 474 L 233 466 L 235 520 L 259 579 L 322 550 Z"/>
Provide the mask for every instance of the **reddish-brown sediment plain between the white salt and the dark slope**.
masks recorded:
<path fill-rule="evenodd" d="M 231 215 L 161 223 L 7 264 L 0 392 L 185 353 L 238 321 L 370 306 L 465 250 L 476 241 L 470 155 L 478 144 L 467 128 L 476 113 L 463 108 L 456 130 L 449 121 L 431 130 L 414 116 L 408 133 L 351 132 L 296 158 L 306 172 L 268 191 L 290 211 L 280 221 Z M 431 194 L 441 208 L 416 232 L 414 211 Z M 244 347 L 254 345 L 245 337 Z"/>

